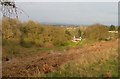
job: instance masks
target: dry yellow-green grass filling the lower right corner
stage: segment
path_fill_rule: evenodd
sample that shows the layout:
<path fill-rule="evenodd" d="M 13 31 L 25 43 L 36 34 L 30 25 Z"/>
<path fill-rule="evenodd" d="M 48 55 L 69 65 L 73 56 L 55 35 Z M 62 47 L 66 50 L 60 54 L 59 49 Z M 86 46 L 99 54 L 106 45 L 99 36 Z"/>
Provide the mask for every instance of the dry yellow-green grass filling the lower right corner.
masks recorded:
<path fill-rule="evenodd" d="M 117 73 L 117 49 L 85 53 L 77 60 L 63 65 L 58 71 L 45 74 L 47 77 L 111 77 Z M 112 64 L 111 64 L 112 63 Z M 104 69 L 105 68 L 105 69 Z"/>

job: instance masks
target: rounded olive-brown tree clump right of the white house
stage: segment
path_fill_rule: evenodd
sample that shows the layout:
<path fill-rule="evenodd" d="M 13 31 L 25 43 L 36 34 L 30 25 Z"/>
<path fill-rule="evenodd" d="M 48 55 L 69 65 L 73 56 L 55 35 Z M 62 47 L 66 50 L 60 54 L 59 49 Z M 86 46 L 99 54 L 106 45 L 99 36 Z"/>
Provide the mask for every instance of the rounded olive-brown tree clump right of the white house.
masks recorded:
<path fill-rule="evenodd" d="M 108 37 L 108 28 L 104 25 L 95 24 L 87 27 L 85 38 L 91 40 L 105 40 Z"/>

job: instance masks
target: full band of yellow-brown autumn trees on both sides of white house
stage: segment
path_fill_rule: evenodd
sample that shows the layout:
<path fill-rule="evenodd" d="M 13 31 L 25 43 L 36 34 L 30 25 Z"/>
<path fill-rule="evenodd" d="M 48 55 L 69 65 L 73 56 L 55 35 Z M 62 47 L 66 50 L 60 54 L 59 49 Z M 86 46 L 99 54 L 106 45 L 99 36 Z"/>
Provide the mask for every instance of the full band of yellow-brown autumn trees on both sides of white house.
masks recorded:
<path fill-rule="evenodd" d="M 113 29 L 113 26 L 112 30 Z M 66 46 L 73 36 L 82 37 L 85 40 L 105 40 L 109 37 L 111 27 L 95 24 L 87 26 L 85 30 L 80 28 L 68 30 L 67 27 L 42 25 L 29 20 L 21 22 L 17 19 L 4 18 L 2 20 L 3 45 L 7 41 L 17 42 L 23 47 L 46 47 Z"/>

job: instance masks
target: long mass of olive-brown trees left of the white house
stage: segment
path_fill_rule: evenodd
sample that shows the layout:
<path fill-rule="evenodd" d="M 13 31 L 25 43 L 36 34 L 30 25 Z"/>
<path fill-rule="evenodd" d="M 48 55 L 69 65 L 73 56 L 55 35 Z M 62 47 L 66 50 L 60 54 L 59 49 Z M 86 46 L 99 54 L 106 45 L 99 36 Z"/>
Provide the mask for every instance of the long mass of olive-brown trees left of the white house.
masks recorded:
<path fill-rule="evenodd" d="M 64 46 L 71 36 L 64 27 L 43 26 L 34 21 L 21 23 L 16 19 L 3 19 L 3 40 L 19 41 L 23 47 Z"/>

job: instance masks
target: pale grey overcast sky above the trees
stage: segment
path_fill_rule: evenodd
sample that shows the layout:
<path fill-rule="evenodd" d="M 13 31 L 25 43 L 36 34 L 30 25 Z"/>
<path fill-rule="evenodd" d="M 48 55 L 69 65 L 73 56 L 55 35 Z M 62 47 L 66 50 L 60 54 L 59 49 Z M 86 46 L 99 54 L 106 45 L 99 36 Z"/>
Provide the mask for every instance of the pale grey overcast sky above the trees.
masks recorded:
<path fill-rule="evenodd" d="M 21 19 L 40 23 L 90 25 L 101 23 L 118 25 L 117 2 L 18 2 L 27 13 Z"/>

